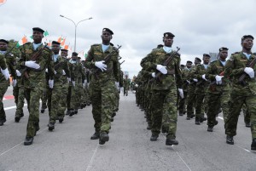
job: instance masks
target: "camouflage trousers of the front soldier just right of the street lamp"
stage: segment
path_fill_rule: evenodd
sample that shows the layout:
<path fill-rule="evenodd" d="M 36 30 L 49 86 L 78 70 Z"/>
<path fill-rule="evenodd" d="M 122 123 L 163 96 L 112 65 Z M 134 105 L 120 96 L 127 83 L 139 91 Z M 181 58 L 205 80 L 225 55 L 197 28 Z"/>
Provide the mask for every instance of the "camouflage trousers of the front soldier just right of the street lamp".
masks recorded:
<path fill-rule="evenodd" d="M 92 105 L 92 115 L 95 121 L 96 132 L 109 132 L 111 128 L 111 117 L 113 114 L 114 88 L 113 82 L 90 83 L 90 100 Z"/>

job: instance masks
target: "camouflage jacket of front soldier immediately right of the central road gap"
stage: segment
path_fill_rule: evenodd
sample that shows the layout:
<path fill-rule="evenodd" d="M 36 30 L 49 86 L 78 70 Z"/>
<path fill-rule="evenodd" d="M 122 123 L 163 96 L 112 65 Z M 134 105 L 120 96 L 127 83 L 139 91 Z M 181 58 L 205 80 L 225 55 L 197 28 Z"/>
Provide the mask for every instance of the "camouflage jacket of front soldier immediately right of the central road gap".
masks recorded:
<path fill-rule="evenodd" d="M 176 53 L 176 52 L 172 52 Z M 163 48 L 155 48 L 145 59 L 142 60 L 141 66 L 146 71 L 154 71 L 157 74 L 159 71 L 156 69 L 157 65 L 163 65 L 169 55 Z M 183 80 L 182 73 L 179 68 L 180 55 L 174 54 L 174 58 L 166 66 L 168 73 L 166 75 L 161 74 L 162 80 L 154 79 L 152 89 L 154 90 L 166 90 L 170 88 L 182 88 Z"/>

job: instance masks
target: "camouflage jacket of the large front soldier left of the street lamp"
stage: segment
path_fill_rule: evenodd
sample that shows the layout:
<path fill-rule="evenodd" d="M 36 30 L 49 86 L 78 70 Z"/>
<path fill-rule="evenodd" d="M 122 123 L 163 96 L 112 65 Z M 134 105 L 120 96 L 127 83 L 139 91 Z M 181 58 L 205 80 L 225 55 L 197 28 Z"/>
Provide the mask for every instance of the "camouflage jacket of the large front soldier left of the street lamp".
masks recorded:
<path fill-rule="evenodd" d="M 39 55 L 36 63 L 40 66 L 39 69 L 35 70 L 32 68 L 26 69 L 25 62 L 32 60 L 32 55 L 36 54 L 39 49 L 43 48 L 44 45 L 41 44 L 37 49 L 33 49 L 32 43 L 26 43 L 20 47 L 20 61 L 18 62 L 21 69 L 22 83 L 25 88 L 41 88 L 44 90 L 45 85 L 45 69 L 48 68 L 49 79 L 53 79 L 54 73 L 54 62 L 52 60 L 52 51 L 49 48 L 44 48 L 43 52 Z M 24 71 L 27 71 L 28 78 L 24 76 Z"/>

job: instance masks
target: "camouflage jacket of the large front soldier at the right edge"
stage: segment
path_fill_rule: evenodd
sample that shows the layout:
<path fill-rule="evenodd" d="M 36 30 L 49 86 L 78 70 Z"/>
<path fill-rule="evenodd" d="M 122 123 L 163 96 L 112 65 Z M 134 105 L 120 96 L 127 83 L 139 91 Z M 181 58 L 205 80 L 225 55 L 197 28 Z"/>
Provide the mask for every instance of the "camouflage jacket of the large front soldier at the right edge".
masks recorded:
<path fill-rule="evenodd" d="M 250 78 L 247 74 L 244 79 L 244 83 L 240 83 L 238 80 L 244 72 L 245 67 L 249 64 L 254 58 L 255 54 L 252 54 L 250 59 L 247 60 L 247 57 L 242 52 L 236 54 L 231 54 L 230 59 L 227 60 L 226 65 L 224 66 L 224 75 L 231 77 L 231 91 L 237 95 L 251 96 L 256 95 L 256 79 L 255 77 Z M 256 70 L 256 65 L 253 66 L 253 70 Z"/>

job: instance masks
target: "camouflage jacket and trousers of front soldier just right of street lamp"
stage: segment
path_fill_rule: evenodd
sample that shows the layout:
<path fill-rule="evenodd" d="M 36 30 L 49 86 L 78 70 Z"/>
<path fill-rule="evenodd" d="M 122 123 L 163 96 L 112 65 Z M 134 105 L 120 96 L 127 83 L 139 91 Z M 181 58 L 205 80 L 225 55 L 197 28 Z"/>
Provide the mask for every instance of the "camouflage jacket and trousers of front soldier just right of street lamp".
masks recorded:
<path fill-rule="evenodd" d="M 113 51 L 113 46 L 103 52 L 102 44 L 94 44 L 90 47 L 85 67 L 98 70 L 96 61 L 104 60 L 104 57 Z M 106 64 L 107 71 L 93 73 L 90 80 L 90 100 L 92 104 L 92 115 L 95 120 L 96 132 L 107 133 L 111 127 L 110 119 L 113 113 L 114 82 L 119 80 L 118 68 L 119 54 L 113 54 L 111 60 Z"/>

